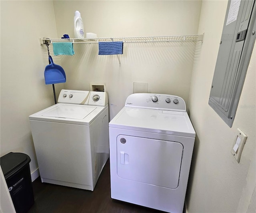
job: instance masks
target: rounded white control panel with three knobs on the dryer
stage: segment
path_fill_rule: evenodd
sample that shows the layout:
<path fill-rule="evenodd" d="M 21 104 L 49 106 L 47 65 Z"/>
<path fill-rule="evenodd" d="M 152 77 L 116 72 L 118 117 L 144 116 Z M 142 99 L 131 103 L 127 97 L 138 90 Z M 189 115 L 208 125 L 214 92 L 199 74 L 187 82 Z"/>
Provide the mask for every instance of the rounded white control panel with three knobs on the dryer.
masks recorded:
<path fill-rule="evenodd" d="M 179 96 L 154 93 L 134 93 L 128 96 L 126 107 L 186 111 L 185 101 Z"/>

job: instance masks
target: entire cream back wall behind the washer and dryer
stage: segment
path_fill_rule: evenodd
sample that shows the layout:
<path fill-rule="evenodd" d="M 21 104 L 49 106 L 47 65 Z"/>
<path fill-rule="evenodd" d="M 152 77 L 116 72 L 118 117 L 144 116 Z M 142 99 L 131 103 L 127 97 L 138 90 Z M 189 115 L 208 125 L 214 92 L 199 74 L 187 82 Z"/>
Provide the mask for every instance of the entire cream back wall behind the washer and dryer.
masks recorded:
<path fill-rule="evenodd" d="M 74 11 L 85 31 L 102 37 L 197 34 L 201 1 L 54 1 L 58 38 L 74 36 Z M 133 92 L 133 82 L 148 83 L 148 92 L 175 94 L 188 101 L 195 42 L 124 43 L 120 55 L 99 56 L 98 44 L 74 44 L 74 56 L 60 56 L 66 89 L 90 90 L 105 83 L 110 119 Z"/>

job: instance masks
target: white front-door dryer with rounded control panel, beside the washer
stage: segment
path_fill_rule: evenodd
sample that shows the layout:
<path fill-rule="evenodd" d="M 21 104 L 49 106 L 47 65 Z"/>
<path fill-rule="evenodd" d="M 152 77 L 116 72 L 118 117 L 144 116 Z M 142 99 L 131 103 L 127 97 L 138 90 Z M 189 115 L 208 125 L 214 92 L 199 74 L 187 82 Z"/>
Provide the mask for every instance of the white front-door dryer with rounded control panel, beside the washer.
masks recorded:
<path fill-rule="evenodd" d="M 195 135 L 182 98 L 128 96 L 109 123 L 111 197 L 182 213 Z"/>

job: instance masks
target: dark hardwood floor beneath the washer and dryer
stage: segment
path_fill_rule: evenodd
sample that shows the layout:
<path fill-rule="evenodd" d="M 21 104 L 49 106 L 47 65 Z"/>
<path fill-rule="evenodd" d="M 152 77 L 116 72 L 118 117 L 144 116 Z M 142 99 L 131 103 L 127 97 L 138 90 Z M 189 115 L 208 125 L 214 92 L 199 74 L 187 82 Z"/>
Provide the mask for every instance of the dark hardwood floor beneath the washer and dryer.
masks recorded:
<path fill-rule="evenodd" d="M 28 213 L 162 213 L 110 197 L 110 166 L 107 161 L 94 191 L 33 183 L 35 203 Z"/>

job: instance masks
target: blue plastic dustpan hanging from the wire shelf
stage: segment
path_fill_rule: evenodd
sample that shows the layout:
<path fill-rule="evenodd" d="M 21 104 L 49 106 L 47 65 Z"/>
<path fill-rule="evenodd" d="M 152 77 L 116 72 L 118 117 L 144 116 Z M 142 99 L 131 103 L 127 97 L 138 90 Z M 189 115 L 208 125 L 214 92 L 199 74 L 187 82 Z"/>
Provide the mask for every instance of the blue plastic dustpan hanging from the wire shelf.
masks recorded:
<path fill-rule="evenodd" d="M 45 67 L 44 80 L 45 84 L 58 84 L 66 82 L 66 74 L 60 65 L 54 64 L 52 56 L 49 56 L 50 64 Z"/>

